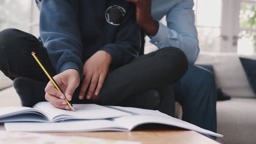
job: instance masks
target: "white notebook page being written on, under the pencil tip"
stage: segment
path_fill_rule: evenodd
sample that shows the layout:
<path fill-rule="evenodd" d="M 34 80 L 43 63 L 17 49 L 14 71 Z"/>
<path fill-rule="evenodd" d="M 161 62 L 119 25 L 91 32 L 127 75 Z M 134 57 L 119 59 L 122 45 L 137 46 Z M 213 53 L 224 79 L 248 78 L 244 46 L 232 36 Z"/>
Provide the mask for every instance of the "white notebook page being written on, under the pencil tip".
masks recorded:
<path fill-rule="evenodd" d="M 63 119 L 104 119 L 130 115 L 129 113 L 109 109 L 96 104 L 73 104 L 75 111 L 67 111 L 55 108 L 49 102 L 40 102 L 34 105 L 40 111 L 47 113 L 51 119 L 62 121 Z"/>

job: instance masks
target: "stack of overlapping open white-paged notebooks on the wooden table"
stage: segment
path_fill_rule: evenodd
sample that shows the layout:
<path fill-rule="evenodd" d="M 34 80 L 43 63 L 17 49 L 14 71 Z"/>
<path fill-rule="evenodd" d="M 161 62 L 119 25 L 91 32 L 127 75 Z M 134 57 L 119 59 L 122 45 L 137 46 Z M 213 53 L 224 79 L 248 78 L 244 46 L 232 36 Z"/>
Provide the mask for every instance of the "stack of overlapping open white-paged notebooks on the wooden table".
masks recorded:
<path fill-rule="evenodd" d="M 78 132 L 130 131 L 142 124 L 165 124 L 223 137 L 159 111 L 120 106 L 74 104 L 75 112 L 56 109 L 48 102 L 29 107 L 0 109 L 0 122 L 7 131 Z"/>

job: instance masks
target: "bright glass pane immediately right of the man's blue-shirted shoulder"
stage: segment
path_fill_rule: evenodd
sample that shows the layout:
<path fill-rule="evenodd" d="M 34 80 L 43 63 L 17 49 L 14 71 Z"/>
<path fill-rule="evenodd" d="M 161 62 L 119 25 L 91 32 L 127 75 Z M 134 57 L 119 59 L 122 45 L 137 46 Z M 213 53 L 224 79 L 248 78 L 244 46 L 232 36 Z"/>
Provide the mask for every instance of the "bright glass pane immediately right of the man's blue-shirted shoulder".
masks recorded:
<path fill-rule="evenodd" d="M 201 51 L 220 52 L 222 0 L 195 0 L 194 3 Z"/>

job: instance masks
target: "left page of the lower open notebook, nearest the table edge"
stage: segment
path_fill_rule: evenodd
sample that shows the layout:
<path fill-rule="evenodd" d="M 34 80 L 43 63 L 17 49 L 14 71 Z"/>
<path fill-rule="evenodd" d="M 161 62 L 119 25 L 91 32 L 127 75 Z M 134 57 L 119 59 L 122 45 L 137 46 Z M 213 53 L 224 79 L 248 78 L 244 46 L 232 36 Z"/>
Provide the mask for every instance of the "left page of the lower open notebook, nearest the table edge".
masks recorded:
<path fill-rule="evenodd" d="M 117 123 L 108 119 L 66 121 L 55 123 L 14 122 L 4 123 L 7 131 L 33 131 L 33 132 L 79 132 L 126 130 Z"/>

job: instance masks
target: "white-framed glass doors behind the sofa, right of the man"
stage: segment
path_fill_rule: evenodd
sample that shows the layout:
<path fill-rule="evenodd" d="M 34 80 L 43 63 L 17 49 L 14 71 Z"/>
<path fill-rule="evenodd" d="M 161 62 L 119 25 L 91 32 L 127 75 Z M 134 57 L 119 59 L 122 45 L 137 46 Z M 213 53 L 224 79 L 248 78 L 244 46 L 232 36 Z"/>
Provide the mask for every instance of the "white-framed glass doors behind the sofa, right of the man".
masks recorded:
<path fill-rule="evenodd" d="M 256 0 L 194 0 L 200 49 L 256 52 Z"/>

